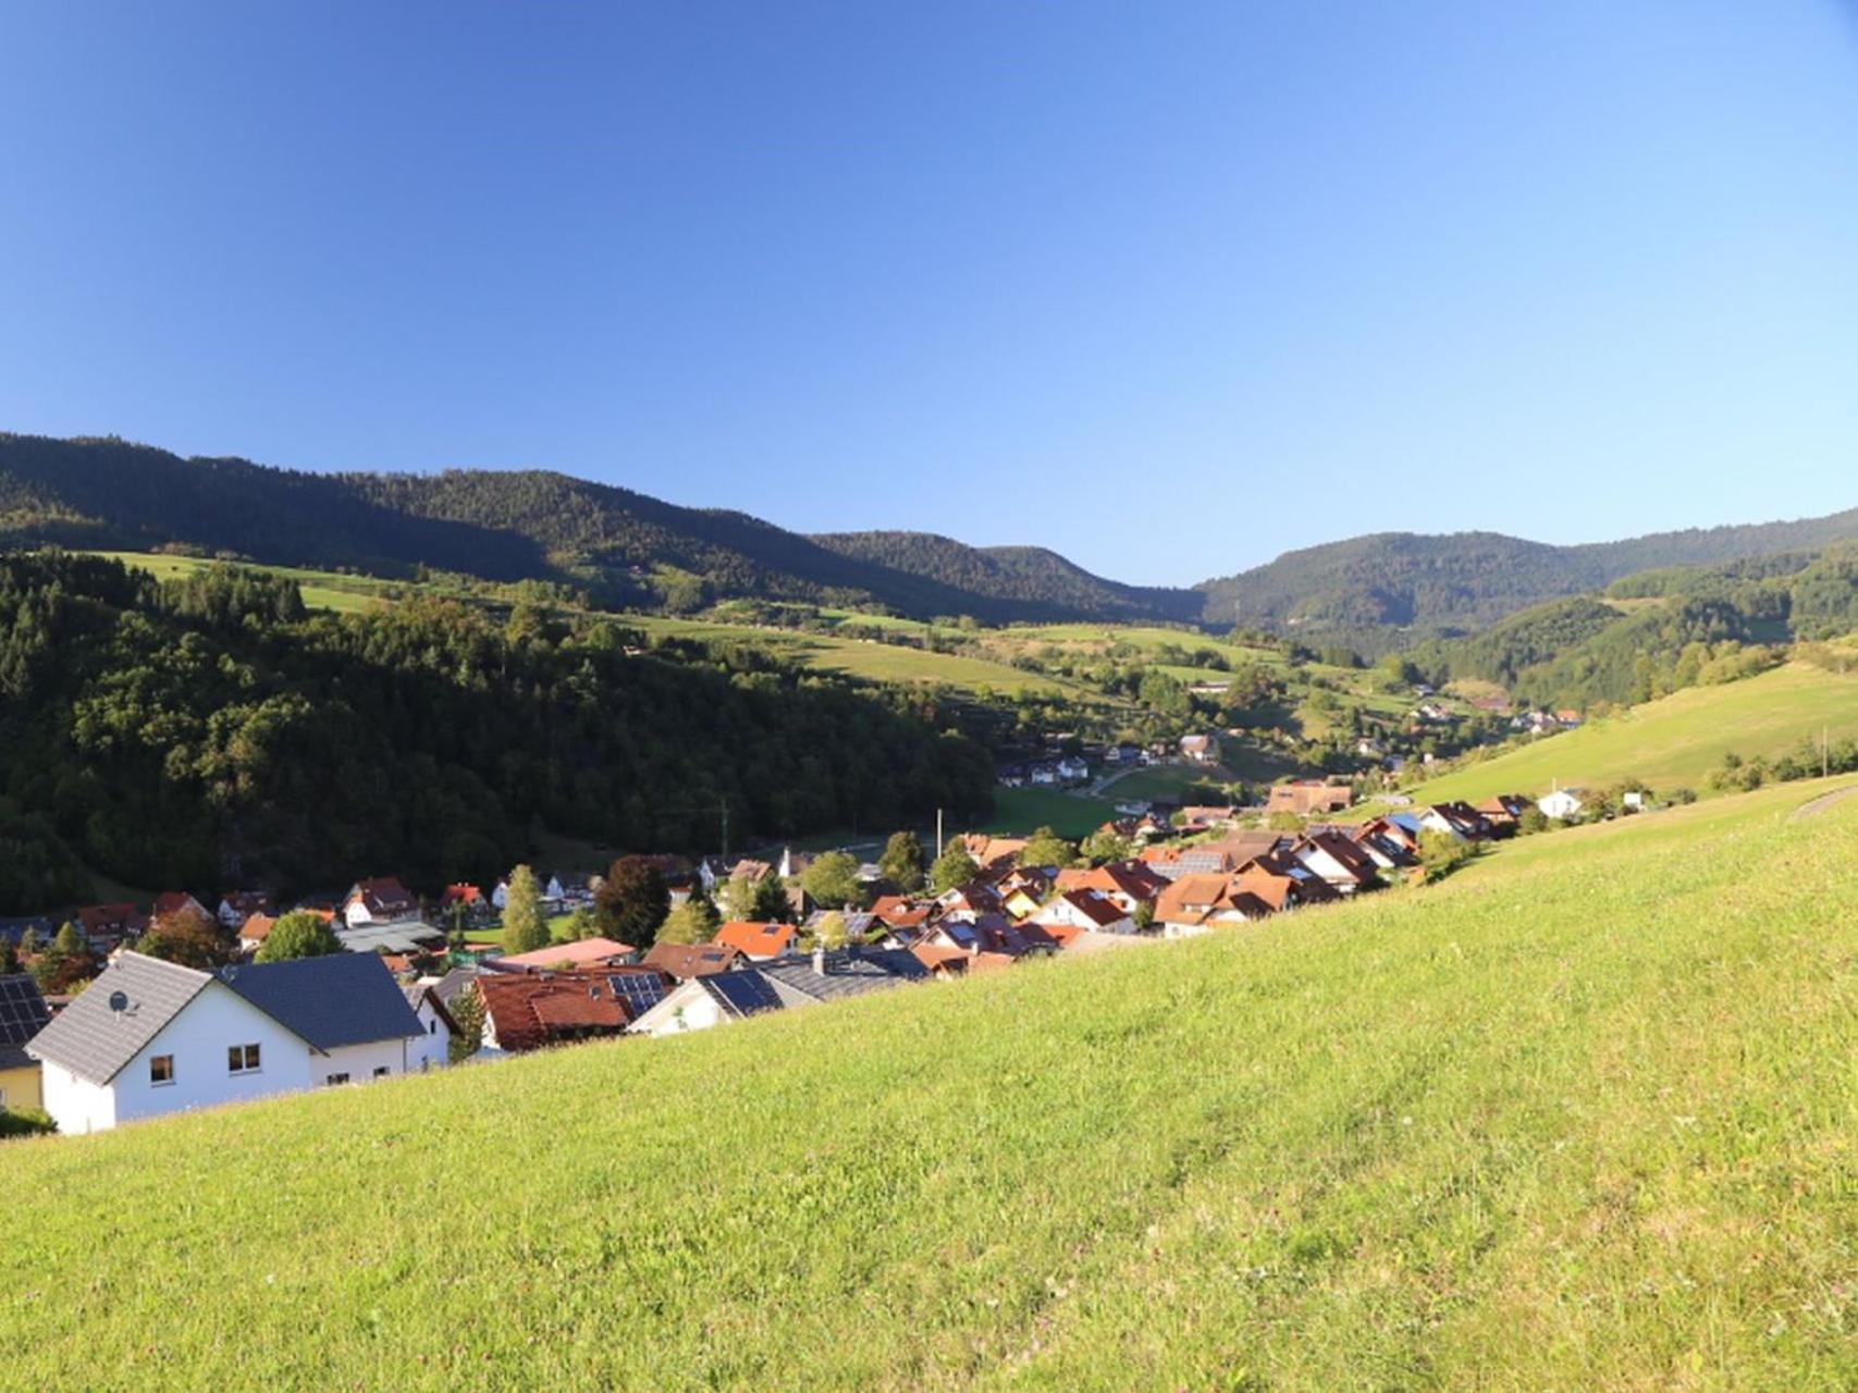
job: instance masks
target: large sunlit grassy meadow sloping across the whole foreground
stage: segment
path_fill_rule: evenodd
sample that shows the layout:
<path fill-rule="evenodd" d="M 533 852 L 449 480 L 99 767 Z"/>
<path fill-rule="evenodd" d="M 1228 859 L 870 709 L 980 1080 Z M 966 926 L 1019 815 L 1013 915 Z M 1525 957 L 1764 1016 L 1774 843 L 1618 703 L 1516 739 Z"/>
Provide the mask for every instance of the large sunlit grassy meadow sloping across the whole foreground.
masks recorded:
<path fill-rule="evenodd" d="M 19 1387 L 1847 1389 L 1858 799 L 6 1148 Z M 936 1048 L 940 1042 L 944 1048 Z"/>

